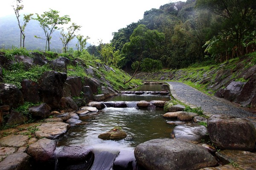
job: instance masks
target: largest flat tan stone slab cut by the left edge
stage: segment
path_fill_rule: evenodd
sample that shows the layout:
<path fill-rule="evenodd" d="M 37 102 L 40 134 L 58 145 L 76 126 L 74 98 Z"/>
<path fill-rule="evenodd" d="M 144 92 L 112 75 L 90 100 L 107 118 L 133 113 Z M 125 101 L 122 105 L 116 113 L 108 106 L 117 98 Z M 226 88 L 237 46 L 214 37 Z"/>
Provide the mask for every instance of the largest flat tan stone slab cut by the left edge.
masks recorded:
<path fill-rule="evenodd" d="M 28 140 L 29 140 L 28 136 L 11 135 L 11 136 L 4 136 L 0 138 L 0 144 L 5 146 L 21 147 L 23 145 L 26 145 Z"/>

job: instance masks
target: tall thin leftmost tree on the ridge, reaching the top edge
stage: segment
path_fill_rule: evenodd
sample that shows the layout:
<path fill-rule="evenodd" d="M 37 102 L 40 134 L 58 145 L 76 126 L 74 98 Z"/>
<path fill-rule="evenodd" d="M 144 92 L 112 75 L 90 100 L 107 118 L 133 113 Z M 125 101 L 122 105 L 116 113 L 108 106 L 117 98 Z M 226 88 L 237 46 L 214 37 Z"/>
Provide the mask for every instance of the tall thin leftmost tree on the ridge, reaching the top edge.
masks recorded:
<path fill-rule="evenodd" d="M 18 26 L 20 28 L 20 48 L 21 48 L 21 40 L 23 39 L 23 48 L 25 47 L 25 27 L 27 26 L 27 24 L 29 23 L 29 21 L 31 20 L 31 17 L 33 14 L 28 14 L 28 15 L 25 15 L 24 14 L 24 17 L 23 17 L 23 23 L 21 23 L 20 21 L 20 10 L 23 9 L 23 5 L 20 4 L 22 2 L 22 0 L 16 0 L 16 6 L 12 6 L 14 11 L 15 11 L 15 15 L 16 15 L 16 18 L 18 20 Z"/>

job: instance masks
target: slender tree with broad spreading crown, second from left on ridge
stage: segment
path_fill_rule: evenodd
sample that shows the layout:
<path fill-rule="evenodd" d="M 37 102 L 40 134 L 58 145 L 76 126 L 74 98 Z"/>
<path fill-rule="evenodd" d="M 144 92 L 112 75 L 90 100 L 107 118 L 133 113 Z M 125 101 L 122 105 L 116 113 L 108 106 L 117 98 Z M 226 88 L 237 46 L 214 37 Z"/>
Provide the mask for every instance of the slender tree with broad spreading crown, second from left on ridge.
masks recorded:
<path fill-rule="evenodd" d="M 34 18 L 35 20 L 39 21 L 40 27 L 44 30 L 46 41 L 48 43 L 48 51 L 50 51 L 50 40 L 52 38 L 52 33 L 61 29 L 61 27 L 58 27 L 58 25 L 63 25 L 70 22 L 70 17 L 68 15 L 60 17 L 58 13 L 59 11 L 50 9 L 50 11 L 44 12 L 44 14 L 41 14 L 41 16 L 36 14 L 37 18 Z M 37 36 L 35 37 L 41 38 Z"/>

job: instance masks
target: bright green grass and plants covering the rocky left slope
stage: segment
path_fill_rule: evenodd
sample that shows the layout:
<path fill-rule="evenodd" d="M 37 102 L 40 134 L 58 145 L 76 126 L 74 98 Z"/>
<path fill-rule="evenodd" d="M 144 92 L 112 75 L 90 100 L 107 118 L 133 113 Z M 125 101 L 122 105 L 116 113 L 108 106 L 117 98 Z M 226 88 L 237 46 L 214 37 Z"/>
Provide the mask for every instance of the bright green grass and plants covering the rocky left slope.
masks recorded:
<path fill-rule="evenodd" d="M 70 54 L 56 54 L 52 51 L 41 52 L 38 50 L 35 51 L 28 51 L 25 48 L 12 48 L 12 49 L 1 49 L 0 52 L 3 52 L 4 56 L 14 61 L 15 55 L 23 55 L 28 57 L 33 57 L 32 52 L 39 53 L 44 55 L 48 60 L 57 59 L 58 57 L 67 57 L 70 60 L 74 60 L 75 58 Z M 125 80 L 129 79 L 130 76 L 125 73 L 124 71 L 104 65 L 99 60 L 90 60 L 85 57 L 79 57 L 79 59 L 84 62 L 84 64 L 77 64 L 77 65 L 67 65 L 67 76 L 74 76 L 74 77 L 88 77 L 93 78 L 90 74 L 86 74 L 86 68 L 93 68 L 93 71 L 96 74 L 95 78 L 102 79 L 103 84 L 108 86 L 106 82 L 109 81 L 110 84 L 113 86 L 115 90 L 123 90 L 132 88 L 134 86 L 142 85 L 143 83 L 138 79 L 132 79 L 131 82 L 127 84 L 123 84 Z M 106 68 L 111 68 L 111 71 L 107 70 Z M 32 68 L 25 69 L 25 66 L 22 62 L 15 62 L 14 64 L 10 65 L 8 68 L 3 68 L 3 82 L 8 84 L 16 85 L 18 88 L 21 88 L 20 83 L 23 79 L 30 79 L 32 81 L 37 82 L 38 79 L 45 71 L 52 70 L 48 64 L 43 66 L 33 66 Z"/>

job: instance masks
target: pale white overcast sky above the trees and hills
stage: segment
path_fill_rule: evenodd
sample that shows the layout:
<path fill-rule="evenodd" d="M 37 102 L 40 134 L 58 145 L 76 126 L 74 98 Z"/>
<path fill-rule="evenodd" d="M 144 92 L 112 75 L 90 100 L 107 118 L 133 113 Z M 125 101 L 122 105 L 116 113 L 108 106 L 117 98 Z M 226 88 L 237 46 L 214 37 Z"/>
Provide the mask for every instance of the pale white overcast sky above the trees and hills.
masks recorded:
<path fill-rule="evenodd" d="M 178 0 L 23 0 L 24 14 L 59 11 L 60 16 L 69 15 L 70 23 L 82 26 L 79 33 L 89 36 L 88 42 L 97 44 L 112 40 L 112 32 L 124 28 L 132 22 L 143 19 L 145 11 Z M 183 0 L 185 1 L 185 0 Z M 15 16 L 12 5 L 15 0 L 1 0 L 0 17 Z"/>

